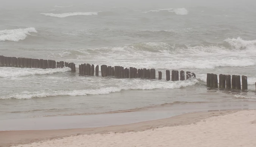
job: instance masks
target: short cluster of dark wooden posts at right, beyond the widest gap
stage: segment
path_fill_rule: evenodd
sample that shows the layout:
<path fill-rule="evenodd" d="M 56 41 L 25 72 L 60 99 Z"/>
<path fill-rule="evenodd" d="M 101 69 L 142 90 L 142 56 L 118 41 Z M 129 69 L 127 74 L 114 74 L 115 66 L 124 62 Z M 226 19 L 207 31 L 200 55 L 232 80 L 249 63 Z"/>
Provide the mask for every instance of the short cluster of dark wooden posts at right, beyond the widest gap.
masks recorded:
<path fill-rule="evenodd" d="M 218 76 L 216 74 L 207 74 L 207 87 L 218 88 Z M 220 89 L 237 89 L 241 90 L 240 75 L 219 75 L 219 88 Z M 247 76 L 242 76 L 242 90 L 248 90 Z"/>

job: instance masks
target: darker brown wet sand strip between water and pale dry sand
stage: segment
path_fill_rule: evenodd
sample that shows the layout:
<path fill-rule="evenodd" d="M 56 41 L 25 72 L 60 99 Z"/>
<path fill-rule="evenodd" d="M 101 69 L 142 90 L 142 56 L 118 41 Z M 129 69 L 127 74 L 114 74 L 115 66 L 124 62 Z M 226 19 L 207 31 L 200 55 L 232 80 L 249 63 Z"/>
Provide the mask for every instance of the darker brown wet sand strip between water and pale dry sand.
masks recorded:
<path fill-rule="evenodd" d="M 131 124 L 95 128 L 0 131 L 0 142 L 2 142 L 0 144 L 0 147 L 18 144 L 28 144 L 32 142 L 39 142 L 48 139 L 58 139 L 75 135 L 106 134 L 109 132 L 140 132 L 162 127 L 183 126 L 199 122 L 205 118 L 231 114 L 242 110 L 248 109 L 210 110 L 207 112 L 193 112 L 153 121 L 143 121 Z"/>

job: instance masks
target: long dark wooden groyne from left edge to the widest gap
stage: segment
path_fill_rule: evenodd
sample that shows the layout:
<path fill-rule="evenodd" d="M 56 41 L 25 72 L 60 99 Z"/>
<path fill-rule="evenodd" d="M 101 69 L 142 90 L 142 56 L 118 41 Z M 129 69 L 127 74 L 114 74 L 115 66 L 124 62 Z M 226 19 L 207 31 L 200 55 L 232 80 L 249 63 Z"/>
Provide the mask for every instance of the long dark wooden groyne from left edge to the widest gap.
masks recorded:
<path fill-rule="evenodd" d="M 71 71 L 76 72 L 76 66 L 74 63 L 68 63 L 64 61 L 44 60 L 44 59 L 32 59 L 32 58 L 16 58 L 5 57 L 0 55 L 0 67 L 20 67 L 20 68 L 40 68 L 40 69 L 55 69 L 69 67 Z M 125 68 L 122 66 L 107 66 L 101 65 L 101 77 L 115 77 L 115 78 L 141 78 L 141 79 L 156 79 L 155 69 L 137 69 L 135 67 Z M 185 72 L 181 70 L 166 70 L 167 81 L 183 81 L 189 78 L 195 78 L 195 74 L 191 72 Z M 179 77 L 180 73 L 180 77 Z M 99 66 L 94 64 L 80 64 L 79 74 L 86 76 L 99 76 Z M 158 80 L 162 80 L 162 72 L 158 71 Z"/>

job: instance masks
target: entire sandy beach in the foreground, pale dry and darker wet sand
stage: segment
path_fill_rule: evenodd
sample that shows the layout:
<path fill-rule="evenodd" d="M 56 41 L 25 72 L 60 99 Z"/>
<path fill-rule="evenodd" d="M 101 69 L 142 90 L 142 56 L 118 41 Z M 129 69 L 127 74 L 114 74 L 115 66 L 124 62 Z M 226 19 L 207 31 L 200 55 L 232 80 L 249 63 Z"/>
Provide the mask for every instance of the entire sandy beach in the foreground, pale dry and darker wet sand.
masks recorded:
<path fill-rule="evenodd" d="M 91 129 L 0 132 L 3 146 L 34 142 L 18 147 L 256 147 L 255 138 L 256 110 L 189 113 Z"/>

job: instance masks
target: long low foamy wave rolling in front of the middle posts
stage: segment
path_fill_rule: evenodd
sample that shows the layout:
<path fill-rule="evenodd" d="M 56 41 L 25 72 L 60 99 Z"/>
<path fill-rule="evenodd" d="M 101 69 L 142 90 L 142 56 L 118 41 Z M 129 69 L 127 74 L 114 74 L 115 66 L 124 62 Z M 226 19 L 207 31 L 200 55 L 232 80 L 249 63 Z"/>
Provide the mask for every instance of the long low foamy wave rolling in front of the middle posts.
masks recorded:
<path fill-rule="evenodd" d="M 31 98 L 44 98 L 48 96 L 86 96 L 86 95 L 103 95 L 112 92 L 120 92 L 121 90 L 152 90 L 152 89 L 176 89 L 186 86 L 195 85 L 198 81 L 190 79 L 185 81 L 166 82 L 166 81 L 151 81 L 144 84 L 133 84 L 130 86 L 122 87 L 106 87 L 99 89 L 86 89 L 86 90 L 58 90 L 58 91 L 40 91 L 40 92 L 26 92 L 26 94 L 14 94 L 1 96 L 0 99 L 31 99 Z"/>

